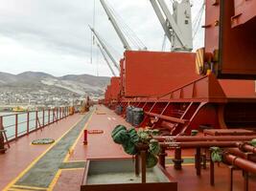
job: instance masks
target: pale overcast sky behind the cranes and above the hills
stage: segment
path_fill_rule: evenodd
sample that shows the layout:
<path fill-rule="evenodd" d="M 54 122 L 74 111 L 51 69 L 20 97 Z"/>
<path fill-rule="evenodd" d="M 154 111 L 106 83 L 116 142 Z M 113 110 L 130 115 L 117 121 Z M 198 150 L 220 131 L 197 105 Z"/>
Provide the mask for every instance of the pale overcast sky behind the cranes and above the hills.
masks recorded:
<path fill-rule="evenodd" d="M 149 0 L 107 0 L 148 50 L 161 51 L 163 30 Z M 171 2 L 166 0 L 167 3 Z M 194 0 L 193 17 L 202 0 Z M 111 75 L 96 47 L 91 53 L 88 24 L 111 46 L 119 60 L 122 44 L 96 0 L 0 0 L 0 71 Z M 195 39 L 203 46 L 203 32 Z M 91 57 L 92 62 L 91 62 Z"/>

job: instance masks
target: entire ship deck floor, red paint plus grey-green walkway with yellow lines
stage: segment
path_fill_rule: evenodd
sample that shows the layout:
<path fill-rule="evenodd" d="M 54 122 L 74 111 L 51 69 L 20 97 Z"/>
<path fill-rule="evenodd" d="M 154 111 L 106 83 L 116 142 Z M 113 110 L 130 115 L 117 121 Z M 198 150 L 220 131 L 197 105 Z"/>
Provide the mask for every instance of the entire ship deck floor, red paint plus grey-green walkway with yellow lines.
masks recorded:
<path fill-rule="evenodd" d="M 0 190 L 80 190 L 87 159 L 131 159 L 122 146 L 111 139 L 112 129 L 123 124 L 130 125 L 105 106 L 97 105 L 85 115 L 74 115 L 59 120 L 29 136 L 12 141 L 6 154 L 0 155 Z M 83 130 L 103 131 L 88 134 L 87 145 L 83 144 Z M 51 145 L 32 145 L 36 138 L 54 138 Z M 215 186 L 210 185 L 209 165 L 197 176 L 195 151 L 182 151 L 182 170 L 173 167 L 173 152 L 168 153 L 166 170 L 177 181 L 179 191 L 228 190 L 228 166 L 216 165 Z M 241 171 L 234 172 L 234 190 L 243 190 Z M 189 186 L 188 186 L 189 185 Z M 249 190 L 256 188 L 256 179 L 249 180 Z"/>

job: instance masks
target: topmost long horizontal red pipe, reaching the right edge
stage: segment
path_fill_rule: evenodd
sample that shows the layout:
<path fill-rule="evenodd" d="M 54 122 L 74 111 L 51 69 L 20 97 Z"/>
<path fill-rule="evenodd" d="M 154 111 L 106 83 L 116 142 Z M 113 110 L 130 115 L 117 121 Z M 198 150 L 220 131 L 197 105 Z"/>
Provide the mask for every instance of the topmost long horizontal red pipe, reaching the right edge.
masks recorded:
<path fill-rule="evenodd" d="M 240 141 L 240 140 L 251 140 L 256 138 L 256 136 L 209 136 L 209 137 L 191 137 L 191 136 L 179 136 L 179 137 L 154 137 L 155 139 L 159 140 L 160 142 L 186 142 L 186 141 L 210 141 L 210 140 L 217 140 L 217 141 Z"/>

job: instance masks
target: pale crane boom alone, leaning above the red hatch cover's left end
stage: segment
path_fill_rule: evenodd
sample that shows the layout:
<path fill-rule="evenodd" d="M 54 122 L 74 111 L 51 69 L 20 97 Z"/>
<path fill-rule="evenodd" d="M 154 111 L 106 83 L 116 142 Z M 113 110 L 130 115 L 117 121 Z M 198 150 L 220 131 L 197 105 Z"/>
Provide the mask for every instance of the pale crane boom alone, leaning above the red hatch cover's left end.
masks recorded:
<path fill-rule="evenodd" d="M 119 36 L 120 40 L 122 41 L 123 43 L 123 46 L 124 48 L 129 51 L 131 50 L 129 44 L 128 44 L 128 40 L 125 36 L 125 34 L 121 31 L 121 29 L 119 28 L 117 22 L 116 22 L 116 19 L 114 18 L 114 16 L 111 14 L 111 12 L 108 10 L 108 7 L 107 5 L 105 4 L 105 0 L 100 0 L 101 1 L 101 4 L 103 5 L 103 8 L 105 10 L 105 13 L 107 14 L 108 16 L 108 19 L 109 21 L 112 23 L 115 31 L 117 32 L 117 35 Z"/>

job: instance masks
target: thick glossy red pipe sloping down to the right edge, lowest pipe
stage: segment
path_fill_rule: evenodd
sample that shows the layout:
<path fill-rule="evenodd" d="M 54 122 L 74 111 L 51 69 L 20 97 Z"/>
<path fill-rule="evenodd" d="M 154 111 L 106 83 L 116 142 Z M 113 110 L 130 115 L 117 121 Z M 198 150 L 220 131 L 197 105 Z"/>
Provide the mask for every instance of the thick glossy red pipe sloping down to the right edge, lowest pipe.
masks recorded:
<path fill-rule="evenodd" d="M 256 174 L 256 163 L 253 161 L 249 161 L 247 159 L 242 159 L 237 156 L 231 155 L 229 153 L 223 153 L 223 159 L 232 164 L 235 165 L 241 169 L 243 169 L 246 172 Z"/>

